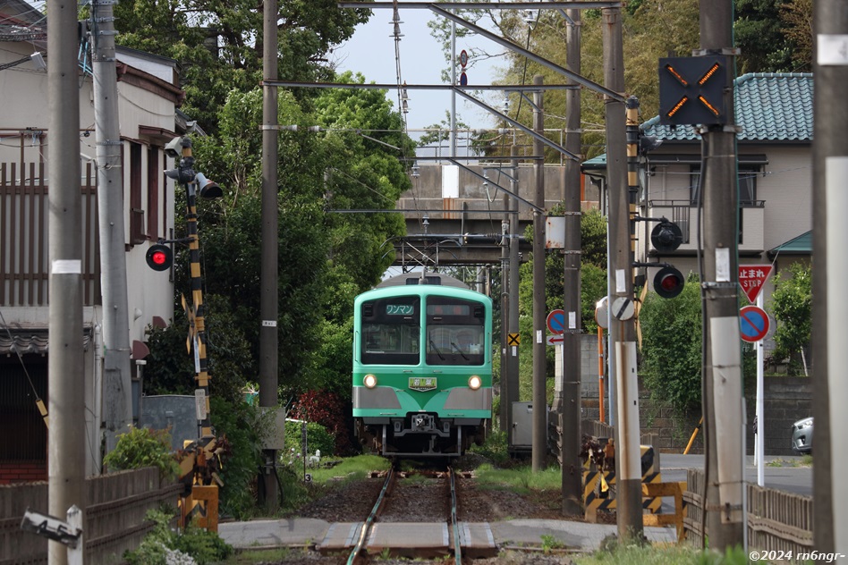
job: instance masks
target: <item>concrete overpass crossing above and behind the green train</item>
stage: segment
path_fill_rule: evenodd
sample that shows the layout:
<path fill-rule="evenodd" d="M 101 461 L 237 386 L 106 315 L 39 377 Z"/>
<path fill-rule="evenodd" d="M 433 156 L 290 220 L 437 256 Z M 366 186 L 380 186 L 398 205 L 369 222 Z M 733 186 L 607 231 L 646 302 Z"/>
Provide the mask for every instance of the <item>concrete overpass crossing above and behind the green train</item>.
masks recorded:
<path fill-rule="evenodd" d="M 467 167 L 466 170 L 463 167 Z M 491 265 L 501 261 L 502 223 L 512 204 L 506 191 L 517 188 L 520 251 L 531 251 L 523 240 L 533 222 L 536 171 L 532 164 L 421 164 L 411 176 L 412 189 L 397 202 L 406 220 L 406 236 L 394 240 L 394 266 Z M 546 164 L 544 213 L 564 198 L 564 167 Z M 485 178 L 484 178 L 485 177 Z M 500 188 L 504 190 L 501 190 Z M 598 189 L 581 181 L 584 209 L 598 202 Z M 594 200 L 594 203 L 592 202 Z M 505 212 L 507 210 L 507 212 Z"/>

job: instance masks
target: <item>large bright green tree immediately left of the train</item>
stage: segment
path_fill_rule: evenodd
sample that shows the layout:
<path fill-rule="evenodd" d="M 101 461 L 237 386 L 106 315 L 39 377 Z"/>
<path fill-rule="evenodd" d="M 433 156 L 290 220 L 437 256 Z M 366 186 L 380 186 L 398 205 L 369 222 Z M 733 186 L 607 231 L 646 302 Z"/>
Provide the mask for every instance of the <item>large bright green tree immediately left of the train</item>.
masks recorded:
<path fill-rule="evenodd" d="M 259 366 L 262 146 L 259 128 L 245 124 L 260 122 L 261 112 L 260 89 L 233 90 L 219 114 L 218 133 L 194 143 L 197 168 L 225 191 L 223 198 L 198 203 L 198 223 L 210 368 L 241 373 L 233 377 L 229 392 L 254 380 Z M 310 388 L 333 390 L 346 399 L 350 387 L 340 383 L 350 375 L 353 297 L 376 284 L 391 265 L 394 257 L 386 252 L 386 241 L 403 233 L 404 224 L 398 214 L 331 210 L 394 207 L 410 186 L 398 156 L 411 154 L 413 144 L 385 91 L 323 90 L 309 103 L 281 91 L 279 113 L 279 123 L 299 126 L 281 132 L 279 141 L 280 383 L 285 399 Z M 310 131 L 316 124 L 321 131 Z M 184 254 L 182 249 L 174 261 L 178 289 L 189 288 Z M 225 321 L 226 336 L 216 337 L 216 320 Z M 249 360 L 215 357 L 242 350 Z M 152 367 L 154 372 L 159 368 L 170 370 Z M 175 383 L 187 375 L 193 375 L 191 367 L 185 374 L 163 375 L 159 382 Z M 213 375 L 212 384 L 223 384 L 221 376 Z M 185 383 L 191 387 L 190 379 Z"/>

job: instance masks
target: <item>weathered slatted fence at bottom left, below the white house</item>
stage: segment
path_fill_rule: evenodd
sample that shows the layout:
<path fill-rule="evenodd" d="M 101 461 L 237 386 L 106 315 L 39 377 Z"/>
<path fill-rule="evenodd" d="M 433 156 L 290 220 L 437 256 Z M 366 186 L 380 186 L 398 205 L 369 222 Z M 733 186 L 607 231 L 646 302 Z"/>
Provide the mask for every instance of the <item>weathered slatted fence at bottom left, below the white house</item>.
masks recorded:
<path fill-rule="evenodd" d="M 148 510 L 177 506 L 182 485 L 160 479 L 157 468 L 86 479 L 83 539 L 87 563 L 123 563 L 153 527 Z M 0 485 L 0 565 L 47 563 L 47 538 L 21 530 L 27 509 L 47 514 L 47 483 Z M 63 517 L 57 517 L 64 520 Z"/>

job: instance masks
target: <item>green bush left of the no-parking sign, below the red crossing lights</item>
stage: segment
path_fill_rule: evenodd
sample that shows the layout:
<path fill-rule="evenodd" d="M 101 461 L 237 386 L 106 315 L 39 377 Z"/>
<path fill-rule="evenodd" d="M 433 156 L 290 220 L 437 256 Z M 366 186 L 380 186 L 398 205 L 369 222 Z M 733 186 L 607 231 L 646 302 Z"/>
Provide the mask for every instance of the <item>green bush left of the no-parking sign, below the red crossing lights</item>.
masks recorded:
<path fill-rule="evenodd" d="M 654 398 L 679 410 L 700 407 L 700 302 L 700 285 L 691 274 L 674 299 L 649 292 L 639 314 L 643 383 Z"/>

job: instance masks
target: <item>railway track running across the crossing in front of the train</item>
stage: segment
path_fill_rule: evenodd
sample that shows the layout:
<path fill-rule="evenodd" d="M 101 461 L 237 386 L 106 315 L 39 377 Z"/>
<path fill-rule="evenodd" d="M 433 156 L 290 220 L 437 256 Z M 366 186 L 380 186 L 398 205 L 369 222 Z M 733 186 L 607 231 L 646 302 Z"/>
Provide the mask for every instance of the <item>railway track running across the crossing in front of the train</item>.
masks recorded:
<path fill-rule="evenodd" d="M 462 563 L 468 527 L 456 516 L 456 473 L 390 469 L 369 517 L 361 524 L 348 565 L 373 556 L 449 559 Z"/>

